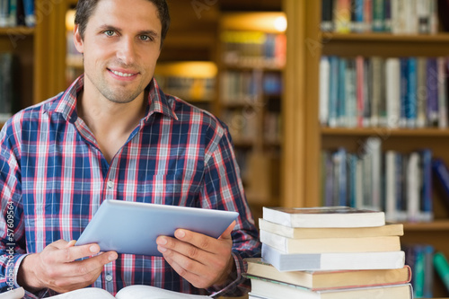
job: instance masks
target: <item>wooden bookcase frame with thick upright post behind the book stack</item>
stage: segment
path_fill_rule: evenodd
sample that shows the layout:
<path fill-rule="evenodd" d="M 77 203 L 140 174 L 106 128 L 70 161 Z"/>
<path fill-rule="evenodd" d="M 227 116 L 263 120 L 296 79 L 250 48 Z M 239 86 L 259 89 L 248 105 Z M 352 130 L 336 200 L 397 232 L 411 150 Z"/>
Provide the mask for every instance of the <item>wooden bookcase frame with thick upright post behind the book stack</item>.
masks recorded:
<path fill-rule="evenodd" d="M 383 151 L 410 152 L 428 147 L 434 157 L 449 163 L 447 128 L 323 128 L 319 115 L 319 66 L 321 56 L 341 57 L 447 57 L 449 35 L 392 35 L 388 33 L 321 32 L 321 1 L 285 0 L 287 14 L 287 65 L 285 138 L 282 167 L 282 205 L 286 207 L 321 206 L 321 150 L 338 146 L 356 151 L 369 136 L 379 136 Z M 449 255 L 449 208 L 433 191 L 436 220 L 430 223 L 406 223 L 404 243 L 429 243 L 436 251 Z M 436 276 L 434 295 L 447 291 Z"/>

